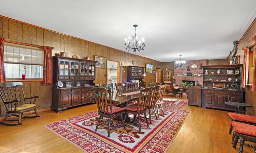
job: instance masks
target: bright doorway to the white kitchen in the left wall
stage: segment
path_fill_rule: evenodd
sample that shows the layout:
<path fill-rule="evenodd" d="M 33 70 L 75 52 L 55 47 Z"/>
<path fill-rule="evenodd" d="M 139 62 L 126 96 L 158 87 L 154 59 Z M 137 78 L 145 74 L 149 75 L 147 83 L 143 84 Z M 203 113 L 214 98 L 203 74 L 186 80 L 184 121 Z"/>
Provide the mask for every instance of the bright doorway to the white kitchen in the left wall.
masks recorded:
<path fill-rule="evenodd" d="M 115 91 L 115 84 L 120 83 L 120 62 L 107 60 L 106 69 L 106 83 L 113 85 L 113 90 Z"/>

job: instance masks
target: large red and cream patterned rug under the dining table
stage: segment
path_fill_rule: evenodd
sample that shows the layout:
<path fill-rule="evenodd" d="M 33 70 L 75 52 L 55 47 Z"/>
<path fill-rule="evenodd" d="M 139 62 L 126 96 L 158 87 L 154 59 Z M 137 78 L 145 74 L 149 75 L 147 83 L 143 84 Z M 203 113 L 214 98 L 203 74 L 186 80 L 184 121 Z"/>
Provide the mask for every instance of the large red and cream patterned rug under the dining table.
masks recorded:
<path fill-rule="evenodd" d="M 97 111 L 54 122 L 45 127 L 86 153 L 165 153 L 180 130 L 189 111 L 165 107 L 160 119 L 152 116 L 152 124 L 141 123 L 138 126 L 126 124 L 112 130 L 108 138 L 107 126 L 100 125 L 95 132 L 99 119 Z M 103 118 L 105 120 L 106 118 Z M 119 121 L 114 121 L 119 125 Z"/>

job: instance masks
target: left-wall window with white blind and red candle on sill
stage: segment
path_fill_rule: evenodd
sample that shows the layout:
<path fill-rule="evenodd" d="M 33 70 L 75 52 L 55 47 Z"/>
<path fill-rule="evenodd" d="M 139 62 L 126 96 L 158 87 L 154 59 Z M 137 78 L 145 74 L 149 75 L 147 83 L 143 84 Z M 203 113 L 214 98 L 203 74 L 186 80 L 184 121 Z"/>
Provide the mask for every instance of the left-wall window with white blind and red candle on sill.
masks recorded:
<path fill-rule="evenodd" d="M 43 78 L 43 48 L 4 43 L 4 68 L 6 79 Z"/>

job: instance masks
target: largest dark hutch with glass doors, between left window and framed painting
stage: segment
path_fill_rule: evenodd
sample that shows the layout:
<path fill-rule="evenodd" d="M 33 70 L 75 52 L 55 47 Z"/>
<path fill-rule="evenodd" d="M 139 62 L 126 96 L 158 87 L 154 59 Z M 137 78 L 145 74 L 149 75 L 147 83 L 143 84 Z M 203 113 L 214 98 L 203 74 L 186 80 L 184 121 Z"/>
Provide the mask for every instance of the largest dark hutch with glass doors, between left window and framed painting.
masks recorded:
<path fill-rule="evenodd" d="M 95 102 L 89 97 L 93 96 L 95 86 L 95 63 L 97 61 L 82 60 L 77 58 L 53 56 L 53 87 L 51 110 L 57 113 L 68 107 Z M 58 87 L 61 81 L 63 87 Z M 71 87 L 66 87 L 71 82 Z M 81 86 L 77 87 L 76 83 Z M 89 86 L 84 86 L 88 84 Z"/>

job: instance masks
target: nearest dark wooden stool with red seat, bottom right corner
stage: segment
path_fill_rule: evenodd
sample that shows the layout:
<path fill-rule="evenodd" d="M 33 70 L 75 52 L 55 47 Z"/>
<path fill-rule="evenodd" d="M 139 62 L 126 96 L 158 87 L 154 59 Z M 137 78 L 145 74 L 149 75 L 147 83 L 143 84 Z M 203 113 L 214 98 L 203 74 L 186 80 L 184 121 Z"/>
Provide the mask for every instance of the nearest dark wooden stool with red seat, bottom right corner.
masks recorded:
<path fill-rule="evenodd" d="M 256 146 L 249 145 L 244 143 L 244 141 L 249 141 L 249 142 L 256 142 L 256 126 L 250 125 L 250 124 L 245 124 L 245 123 L 240 123 L 240 122 L 232 122 L 233 130 L 234 130 L 234 135 L 235 138 L 233 141 L 233 148 L 236 148 L 238 139 L 240 137 L 240 147 L 238 150 L 238 153 L 243 152 L 243 146 L 251 147 L 254 149 L 254 153 L 256 153 Z"/>

